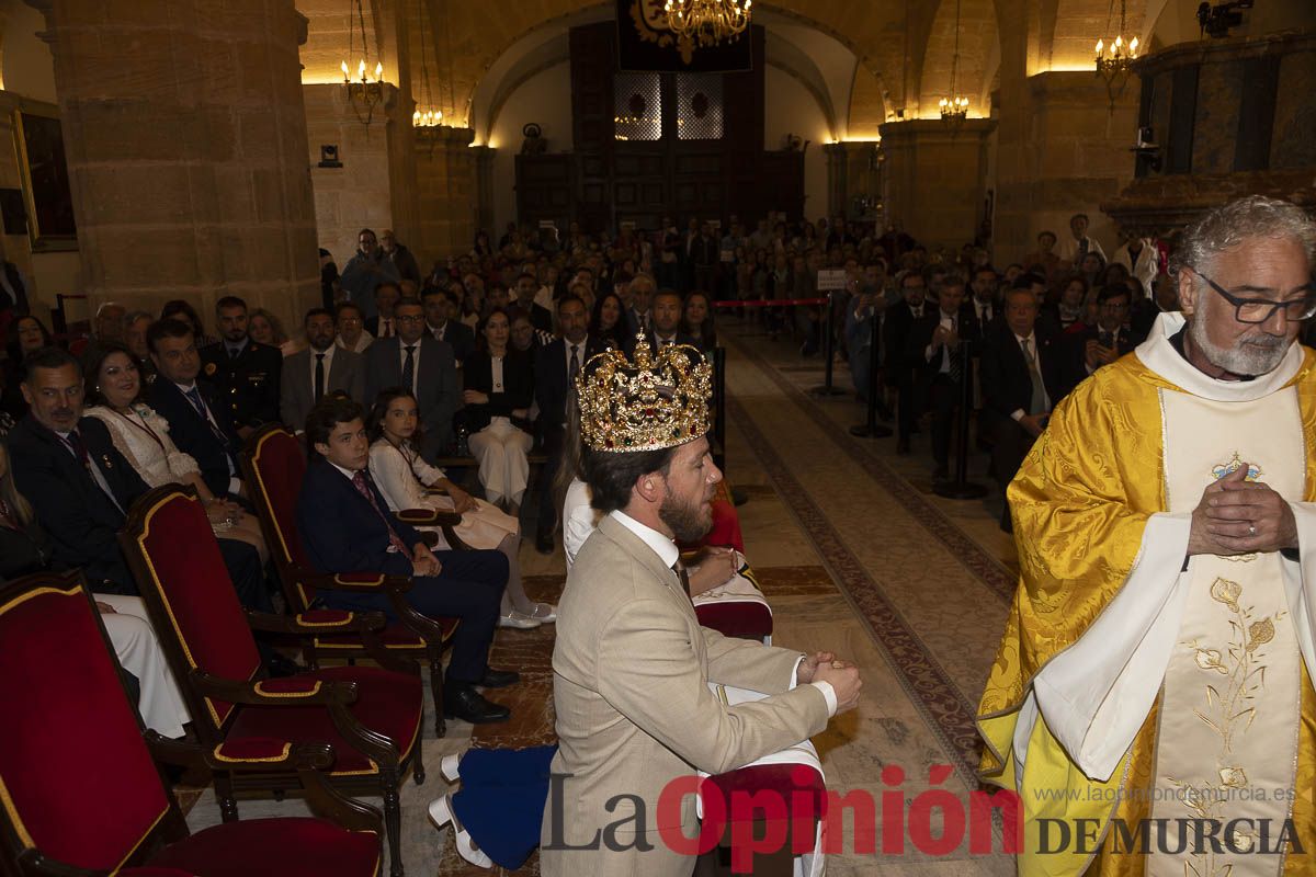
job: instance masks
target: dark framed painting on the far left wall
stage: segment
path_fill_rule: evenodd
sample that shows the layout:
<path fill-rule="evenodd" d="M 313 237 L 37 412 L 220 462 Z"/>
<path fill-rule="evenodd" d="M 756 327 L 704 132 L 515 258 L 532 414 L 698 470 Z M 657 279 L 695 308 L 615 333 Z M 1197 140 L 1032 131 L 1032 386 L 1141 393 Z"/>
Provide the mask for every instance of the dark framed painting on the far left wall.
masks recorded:
<path fill-rule="evenodd" d="M 76 250 L 78 226 L 59 117 L 32 107 L 13 110 L 13 146 L 22 178 L 32 251 Z"/>

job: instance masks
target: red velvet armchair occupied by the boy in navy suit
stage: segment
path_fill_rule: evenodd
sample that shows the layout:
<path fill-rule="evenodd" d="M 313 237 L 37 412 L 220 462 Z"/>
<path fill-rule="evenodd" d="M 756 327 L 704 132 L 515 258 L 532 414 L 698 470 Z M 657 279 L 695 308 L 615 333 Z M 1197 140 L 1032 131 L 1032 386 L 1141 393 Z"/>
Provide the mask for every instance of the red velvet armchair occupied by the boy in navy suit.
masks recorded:
<path fill-rule="evenodd" d="M 296 509 L 301 493 L 301 479 L 307 473 L 307 455 L 301 442 L 278 423 L 261 427 L 247 442 L 242 454 L 242 472 L 246 476 L 251 502 L 270 546 L 283 593 L 290 611 L 305 613 L 311 609 L 320 589 L 359 590 L 368 585 L 386 593 L 392 602 L 399 622 L 391 623 L 380 634 L 383 646 L 390 652 L 411 659 L 429 661 L 429 685 L 434 701 L 434 728 L 443 736 L 443 648 L 451 642 L 457 630 L 455 618 L 426 618 L 421 615 L 403 596 L 411 584 L 397 576 L 326 576 L 316 572 L 301 548 L 297 535 Z M 437 525 L 443 527 L 443 535 L 451 546 L 462 542 L 451 531 L 461 523 L 461 515 L 443 515 L 425 509 L 407 510 L 399 517 L 411 525 Z M 322 657 L 355 660 L 368 657 L 368 650 L 361 636 L 351 632 L 325 630 L 308 638 L 303 646 L 303 656 L 312 669 L 320 667 Z"/>

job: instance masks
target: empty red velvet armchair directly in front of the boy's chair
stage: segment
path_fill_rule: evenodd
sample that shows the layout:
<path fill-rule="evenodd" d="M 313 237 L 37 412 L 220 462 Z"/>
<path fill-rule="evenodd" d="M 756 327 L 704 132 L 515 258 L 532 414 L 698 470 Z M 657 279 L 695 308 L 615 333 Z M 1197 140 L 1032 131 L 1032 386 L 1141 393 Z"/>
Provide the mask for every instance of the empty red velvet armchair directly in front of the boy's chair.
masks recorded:
<path fill-rule="evenodd" d="M 329 743 L 337 753 L 326 770 L 334 786 L 383 795 L 390 873 L 401 877 L 397 789 L 408 769 L 417 784 L 425 778 L 425 692 L 416 664 L 390 655 L 375 639 L 383 615 L 245 610 L 192 488 L 166 485 L 143 496 L 133 505 L 120 542 L 196 734 L 218 761 L 215 792 L 225 822 L 237 819 L 240 790 L 280 797 L 296 788 L 296 774 L 278 761 L 284 740 Z M 299 636 L 351 632 L 379 667 L 333 667 L 267 680 L 253 627 Z M 275 761 L 263 772 L 237 773 L 224 769 L 228 759 Z"/>

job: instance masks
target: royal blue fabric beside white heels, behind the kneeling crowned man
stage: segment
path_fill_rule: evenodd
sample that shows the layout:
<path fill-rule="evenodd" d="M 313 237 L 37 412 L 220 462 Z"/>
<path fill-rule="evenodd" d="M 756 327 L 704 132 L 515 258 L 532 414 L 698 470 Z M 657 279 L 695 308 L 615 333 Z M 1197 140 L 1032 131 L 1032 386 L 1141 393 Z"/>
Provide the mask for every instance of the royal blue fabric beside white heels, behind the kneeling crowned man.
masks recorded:
<path fill-rule="evenodd" d="M 462 789 L 453 813 L 486 856 L 515 870 L 540 845 L 555 746 L 470 749 L 462 756 Z"/>

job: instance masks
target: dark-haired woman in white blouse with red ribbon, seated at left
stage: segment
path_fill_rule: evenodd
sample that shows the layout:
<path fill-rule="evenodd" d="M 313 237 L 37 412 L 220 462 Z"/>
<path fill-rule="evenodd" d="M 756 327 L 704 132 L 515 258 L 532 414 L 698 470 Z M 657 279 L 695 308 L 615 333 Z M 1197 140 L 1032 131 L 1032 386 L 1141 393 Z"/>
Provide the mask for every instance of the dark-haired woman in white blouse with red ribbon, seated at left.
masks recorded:
<path fill-rule="evenodd" d="M 141 362 L 124 344 L 107 342 L 87 363 L 87 417 L 95 417 L 114 442 L 114 448 L 147 485 L 190 484 L 205 504 L 211 529 L 222 539 L 237 539 L 268 560 L 261 523 L 242 511 L 242 506 L 225 497 L 216 497 L 205 485 L 201 469 L 191 455 L 183 454 L 168 434 L 168 421 L 142 401 L 145 381 Z"/>

